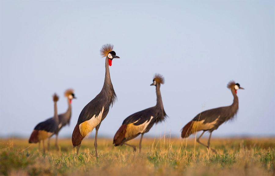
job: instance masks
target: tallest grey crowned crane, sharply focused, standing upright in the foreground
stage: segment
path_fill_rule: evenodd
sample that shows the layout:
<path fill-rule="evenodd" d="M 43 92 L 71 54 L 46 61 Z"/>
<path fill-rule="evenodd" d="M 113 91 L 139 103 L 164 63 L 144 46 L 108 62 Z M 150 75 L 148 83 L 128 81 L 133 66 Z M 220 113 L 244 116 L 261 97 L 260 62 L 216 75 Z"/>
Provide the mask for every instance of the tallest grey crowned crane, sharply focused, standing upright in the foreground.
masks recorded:
<path fill-rule="evenodd" d="M 113 45 L 105 44 L 101 47 L 101 55 L 105 57 L 105 81 L 101 92 L 90 101 L 81 111 L 75 129 L 72 133 L 72 144 L 77 147 L 78 155 L 79 147 L 83 138 L 96 128 L 94 148 L 97 154 L 97 133 L 101 122 L 105 119 L 109 112 L 110 106 L 116 101 L 116 93 L 114 91 L 110 78 L 109 67 L 112 66 L 112 60 L 119 58 L 113 51 Z"/>

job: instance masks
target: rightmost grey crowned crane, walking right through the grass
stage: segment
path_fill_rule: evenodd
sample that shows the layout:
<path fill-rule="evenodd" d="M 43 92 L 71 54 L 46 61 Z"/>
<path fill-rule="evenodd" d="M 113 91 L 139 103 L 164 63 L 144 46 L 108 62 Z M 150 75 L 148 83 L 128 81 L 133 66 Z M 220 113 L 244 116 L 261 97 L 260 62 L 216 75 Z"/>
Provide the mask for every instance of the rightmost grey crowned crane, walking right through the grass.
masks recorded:
<path fill-rule="evenodd" d="M 227 85 L 227 88 L 229 88 L 233 94 L 233 104 L 230 106 L 209 109 L 199 113 L 193 118 L 193 120 L 191 120 L 182 128 L 182 138 L 186 138 L 190 136 L 190 134 L 196 133 L 197 131 L 203 131 L 202 134 L 198 137 L 197 142 L 210 149 L 210 139 L 212 132 L 215 129 L 218 129 L 222 123 L 233 119 L 239 109 L 237 90 L 244 88 L 240 87 L 240 84 L 235 83 L 234 81 L 230 81 Z M 207 145 L 200 142 L 201 136 L 206 131 L 210 132 Z M 215 152 L 214 149 L 211 150 Z"/>

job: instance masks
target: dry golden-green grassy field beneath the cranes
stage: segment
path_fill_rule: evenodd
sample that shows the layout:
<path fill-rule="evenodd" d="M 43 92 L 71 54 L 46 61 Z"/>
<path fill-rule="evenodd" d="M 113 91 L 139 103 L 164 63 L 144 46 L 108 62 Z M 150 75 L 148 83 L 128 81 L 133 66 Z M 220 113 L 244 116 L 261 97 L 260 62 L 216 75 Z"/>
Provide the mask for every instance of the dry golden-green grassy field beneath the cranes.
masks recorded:
<path fill-rule="evenodd" d="M 201 140 L 207 143 L 207 139 Z M 274 175 L 275 138 L 213 138 L 217 154 L 194 138 L 145 138 L 141 154 L 128 146 L 114 147 L 112 139 L 84 139 L 75 156 L 70 139 L 60 139 L 46 154 L 27 139 L 0 140 L 1 175 Z M 139 138 L 130 144 L 138 146 Z"/>

